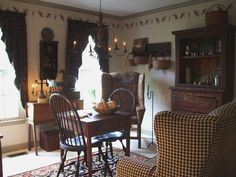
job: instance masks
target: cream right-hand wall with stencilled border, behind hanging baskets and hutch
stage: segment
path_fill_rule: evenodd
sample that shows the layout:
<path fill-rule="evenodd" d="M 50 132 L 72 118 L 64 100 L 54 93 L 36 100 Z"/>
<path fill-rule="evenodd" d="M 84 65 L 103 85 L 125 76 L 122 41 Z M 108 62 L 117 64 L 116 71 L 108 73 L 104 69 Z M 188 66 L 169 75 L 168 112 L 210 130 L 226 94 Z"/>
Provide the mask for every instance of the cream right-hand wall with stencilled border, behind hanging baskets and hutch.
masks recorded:
<path fill-rule="evenodd" d="M 149 43 L 171 42 L 172 65 L 167 71 L 153 69 L 149 71 L 147 65 L 129 67 L 126 63 L 126 57 L 122 59 L 113 58 L 111 60 L 111 69 L 113 71 L 116 71 L 116 67 L 119 65 L 118 68 L 123 68 L 123 70 L 145 73 L 145 88 L 147 89 L 147 85 L 150 85 L 150 89 L 154 91 L 154 115 L 159 111 L 171 109 L 171 91 L 169 86 L 175 84 L 175 36 L 172 34 L 172 31 L 204 27 L 205 15 L 202 12 L 211 7 L 212 4 L 219 3 L 229 5 L 232 1 L 218 0 L 122 21 L 123 25 L 120 31 L 130 47 L 133 39 L 143 37 L 148 37 Z M 233 6 L 229 10 L 229 21 L 232 24 L 236 24 L 235 10 L 236 5 L 234 1 Z M 176 16 L 178 19 L 175 18 Z M 181 16 L 182 18 L 180 18 Z M 158 23 L 156 19 L 159 19 L 160 22 Z M 147 97 L 145 98 L 145 105 L 147 111 L 142 124 L 142 132 L 151 134 L 152 107 L 151 100 L 148 100 Z"/>

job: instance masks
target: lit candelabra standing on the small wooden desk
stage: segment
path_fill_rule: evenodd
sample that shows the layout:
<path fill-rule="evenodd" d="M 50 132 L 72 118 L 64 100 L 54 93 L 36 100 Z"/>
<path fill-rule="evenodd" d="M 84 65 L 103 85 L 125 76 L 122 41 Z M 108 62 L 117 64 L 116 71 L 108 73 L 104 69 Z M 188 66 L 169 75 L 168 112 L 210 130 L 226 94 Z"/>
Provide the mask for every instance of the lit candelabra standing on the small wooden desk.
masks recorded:
<path fill-rule="evenodd" d="M 43 85 L 48 85 L 47 84 L 47 81 L 43 81 L 43 80 L 40 80 L 40 82 L 38 82 L 38 80 L 35 80 L 34 83 L 32 84 L 32 92 L 31 94 L 36 97 L 38 96 L 38 102 L 43 102 L 44 100 L 46 100 L 47 98 L 47 91 L 46 90 L 43 90 Z M 40 85 L 40 90 L 38 90 L 38 85 Z"/>

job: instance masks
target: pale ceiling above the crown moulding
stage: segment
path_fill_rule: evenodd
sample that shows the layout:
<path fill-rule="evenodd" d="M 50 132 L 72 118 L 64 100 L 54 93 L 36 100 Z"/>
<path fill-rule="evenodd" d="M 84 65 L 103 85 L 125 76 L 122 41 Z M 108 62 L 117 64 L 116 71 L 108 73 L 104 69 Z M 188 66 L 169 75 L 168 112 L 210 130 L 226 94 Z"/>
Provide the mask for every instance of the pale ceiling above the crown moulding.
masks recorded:
<path fill-rule="evenodd" d="M 63 5 L 80 10 L 98 12 L 100 0 L 38 0 L 51 5 Z M 173 9 L 193 5 L 209 0 L 101 0 L 101 9 L 104 14 L 118 18 L 130 17 L 148 12 Z"/>

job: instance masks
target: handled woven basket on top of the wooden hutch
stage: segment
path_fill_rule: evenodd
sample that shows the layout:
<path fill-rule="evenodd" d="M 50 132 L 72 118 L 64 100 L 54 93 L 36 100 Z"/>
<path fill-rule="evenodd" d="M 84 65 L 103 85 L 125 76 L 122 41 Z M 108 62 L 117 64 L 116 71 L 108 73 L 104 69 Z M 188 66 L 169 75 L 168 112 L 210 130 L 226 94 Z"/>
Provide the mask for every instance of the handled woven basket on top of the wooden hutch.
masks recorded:
<path fill-rule="evenodd" d="M 205 23 L 206 26 L 227 24 L 228 23 L 227 8 L 221 4 L 216 4 L 211 6 L 205 14 Z"/>

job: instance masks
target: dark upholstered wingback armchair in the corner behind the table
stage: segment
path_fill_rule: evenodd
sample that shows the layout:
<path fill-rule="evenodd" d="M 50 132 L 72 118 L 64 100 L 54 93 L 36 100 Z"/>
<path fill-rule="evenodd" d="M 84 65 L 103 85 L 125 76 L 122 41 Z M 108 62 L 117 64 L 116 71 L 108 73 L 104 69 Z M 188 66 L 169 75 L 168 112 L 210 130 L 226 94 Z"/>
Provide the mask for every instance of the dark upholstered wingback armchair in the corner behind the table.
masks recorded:
<path fill-rule="evenodd" d="M 137 72 L 113 72 L 102 74 L 102 99 L 108 100 L 111 93 L 117 88 L 129 89 L 135 97 L 135 114 L 132 116 L 132 125 L 136 125 L 137 136 L 131 139 L 138 140 L 141 148 L 141 125 L 145 113 L 144 81 L 145 75 Z"/>

